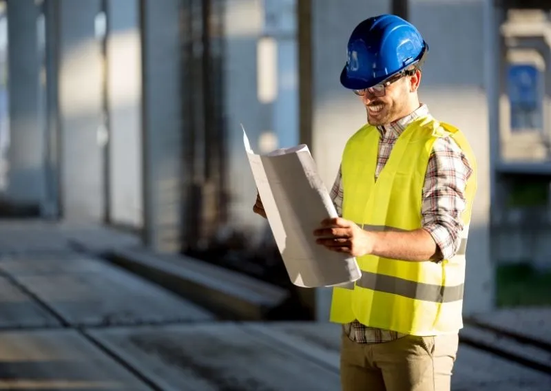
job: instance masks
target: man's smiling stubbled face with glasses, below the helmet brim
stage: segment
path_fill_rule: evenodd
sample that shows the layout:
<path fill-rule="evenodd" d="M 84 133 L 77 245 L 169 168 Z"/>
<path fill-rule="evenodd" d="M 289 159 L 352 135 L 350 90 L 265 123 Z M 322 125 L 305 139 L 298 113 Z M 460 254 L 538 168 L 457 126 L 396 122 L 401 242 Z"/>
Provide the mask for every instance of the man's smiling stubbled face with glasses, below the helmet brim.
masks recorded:
<path fill-rule="evenodd" d="M 385 87 L 384 96 L 375 96 L 368 91 L 360 100 L 366 107 L 367 122 L 370 125 L 387 125 L 402 118 L 411 109 L 412 94 L 416 94 L 420 73 L 404 76 Z"/>

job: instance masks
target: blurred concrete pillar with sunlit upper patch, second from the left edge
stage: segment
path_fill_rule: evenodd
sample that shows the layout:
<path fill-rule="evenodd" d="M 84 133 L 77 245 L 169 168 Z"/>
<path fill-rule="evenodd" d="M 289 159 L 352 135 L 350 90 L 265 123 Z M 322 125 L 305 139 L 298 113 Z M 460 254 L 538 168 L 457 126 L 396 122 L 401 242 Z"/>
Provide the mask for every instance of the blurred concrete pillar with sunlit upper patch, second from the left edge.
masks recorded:
<path fill-rule="evenodd" d="M 59 0 L 59 127 L 65 220 L 101 222 L 105 210 L 99 0 Z"/>

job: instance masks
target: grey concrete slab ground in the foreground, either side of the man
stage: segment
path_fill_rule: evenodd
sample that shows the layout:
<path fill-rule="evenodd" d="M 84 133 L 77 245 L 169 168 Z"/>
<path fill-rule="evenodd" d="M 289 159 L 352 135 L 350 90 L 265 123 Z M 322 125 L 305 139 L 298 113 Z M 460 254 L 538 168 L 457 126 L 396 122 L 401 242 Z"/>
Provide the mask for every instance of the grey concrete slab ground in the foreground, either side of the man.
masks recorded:
<path fill-rule="evenodd" d="M 72 251 L 67 235 L 94 237 L 43 223 L 0 224 L 0 390 L 340 390 L 337 326 L 217 321 Z M 550 315 L 488 317 L 548 337 Z M 452 389 L 544 391 L 551 375 L 461 345 Z"/>

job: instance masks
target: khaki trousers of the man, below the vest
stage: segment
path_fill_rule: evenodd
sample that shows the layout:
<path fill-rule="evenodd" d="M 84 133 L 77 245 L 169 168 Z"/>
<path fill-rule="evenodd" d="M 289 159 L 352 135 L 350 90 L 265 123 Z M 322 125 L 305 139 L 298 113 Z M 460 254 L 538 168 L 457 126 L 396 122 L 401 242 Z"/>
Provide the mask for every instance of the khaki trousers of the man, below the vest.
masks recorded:
<path fill-rule="evenodd" d="M 459 336 L 358 344 L 343 332 L 342 391 L 449 391 Z"/>

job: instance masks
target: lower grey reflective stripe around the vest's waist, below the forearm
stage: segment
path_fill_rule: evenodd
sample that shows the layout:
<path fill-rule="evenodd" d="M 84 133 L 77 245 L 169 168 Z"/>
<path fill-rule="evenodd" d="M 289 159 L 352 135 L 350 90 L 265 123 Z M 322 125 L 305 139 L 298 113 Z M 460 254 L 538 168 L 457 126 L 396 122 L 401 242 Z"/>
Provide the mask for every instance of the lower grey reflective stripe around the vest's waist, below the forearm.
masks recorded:
<path fill-rule="evenodd" d="M 393 277 L 362 271 L 362 277 L 355 285 L 362 288 L 377 290 L 378 292 L 393 293 L 408 297 L 409 299 L 423 300 L 424 302 L 449 303 L 463 299 L 464 284 L 457 286 L 439 286 L 423 284 L 422 282 L 409 281 Z M 352 285 L 342 288 L 353 289 Z"/>

